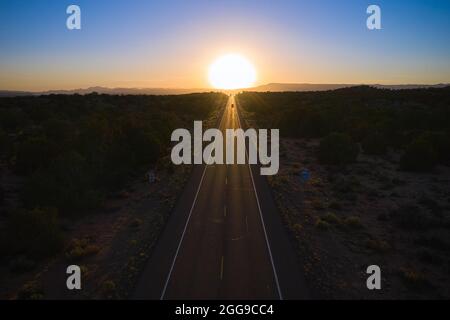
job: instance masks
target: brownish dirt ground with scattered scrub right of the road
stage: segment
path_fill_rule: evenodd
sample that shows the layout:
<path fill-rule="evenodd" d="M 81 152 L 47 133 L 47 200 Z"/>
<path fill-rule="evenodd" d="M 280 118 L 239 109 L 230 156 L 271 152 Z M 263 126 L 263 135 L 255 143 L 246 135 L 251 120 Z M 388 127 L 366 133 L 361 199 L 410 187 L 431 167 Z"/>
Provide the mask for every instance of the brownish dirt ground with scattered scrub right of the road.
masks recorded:
<path fill-rule="evenodd" d="M 393 152 L 325 167 L 318 145 L 281 139 L 280 172 L 269 178 L 313 297 L 449 298 L 450 168 L 402 172 Z M 381 290 L 367 289 L 370 265 L 381 268 Z"/>

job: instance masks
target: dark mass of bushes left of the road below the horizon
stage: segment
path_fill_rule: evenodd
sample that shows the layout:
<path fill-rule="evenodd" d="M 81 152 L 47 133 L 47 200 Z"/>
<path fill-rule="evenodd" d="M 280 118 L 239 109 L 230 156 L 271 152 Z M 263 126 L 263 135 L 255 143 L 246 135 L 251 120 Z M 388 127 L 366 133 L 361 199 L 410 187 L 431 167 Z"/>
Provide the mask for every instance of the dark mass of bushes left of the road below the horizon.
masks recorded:
<path fill-rule="evenodd" d="M 105 194 L 154 167 L 174 129 L 205 120 L 227 99 L 221 93 L 0 97 L 0 157 L 23 176 L 27 209 L 89 213 Z"/>

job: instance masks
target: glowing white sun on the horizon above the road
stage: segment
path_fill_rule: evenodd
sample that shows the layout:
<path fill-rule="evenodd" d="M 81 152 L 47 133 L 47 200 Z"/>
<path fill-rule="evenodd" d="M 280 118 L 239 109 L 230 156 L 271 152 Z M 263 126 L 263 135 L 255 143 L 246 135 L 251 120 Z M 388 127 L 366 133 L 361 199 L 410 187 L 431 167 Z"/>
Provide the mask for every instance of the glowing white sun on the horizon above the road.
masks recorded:
<path fill-rule="evenodd" d="M 209 82 L 216 89 L 249 88 L 255 81 L 255 68 L 239 54 L 223 55 L 209 67 Z"/>

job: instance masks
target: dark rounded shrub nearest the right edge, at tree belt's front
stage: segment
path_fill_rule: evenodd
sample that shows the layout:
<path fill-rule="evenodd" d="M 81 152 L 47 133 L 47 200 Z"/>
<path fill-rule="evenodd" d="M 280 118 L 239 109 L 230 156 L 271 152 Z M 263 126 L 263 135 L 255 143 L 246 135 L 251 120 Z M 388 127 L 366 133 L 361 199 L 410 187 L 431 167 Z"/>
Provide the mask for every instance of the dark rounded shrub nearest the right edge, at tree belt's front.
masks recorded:
<path fill-rule="evenodd" d="M 437 163 L 436 152 L 429 140 L 418 138 L 410 143 L 400 159 L 400 168 L 406 171 L 429 171 Z"/>

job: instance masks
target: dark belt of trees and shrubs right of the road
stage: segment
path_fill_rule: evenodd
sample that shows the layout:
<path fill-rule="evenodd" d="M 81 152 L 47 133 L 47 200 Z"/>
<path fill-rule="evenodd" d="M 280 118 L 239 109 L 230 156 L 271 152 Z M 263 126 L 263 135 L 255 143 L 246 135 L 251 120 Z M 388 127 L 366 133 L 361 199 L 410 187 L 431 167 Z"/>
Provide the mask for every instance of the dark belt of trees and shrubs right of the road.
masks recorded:
<path fill-rule="evenodd" d="M 242 107 L 282 136 L 319 138 L 319 160 L 353 162 L 359 151 L 402 152 L 404 170 L 450 162 L 450 87 L 389 90 L 359 86 L 325 92 L 244 92 Z M 360 148 L 361 147 L 361 148 Z"/>

